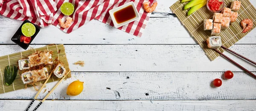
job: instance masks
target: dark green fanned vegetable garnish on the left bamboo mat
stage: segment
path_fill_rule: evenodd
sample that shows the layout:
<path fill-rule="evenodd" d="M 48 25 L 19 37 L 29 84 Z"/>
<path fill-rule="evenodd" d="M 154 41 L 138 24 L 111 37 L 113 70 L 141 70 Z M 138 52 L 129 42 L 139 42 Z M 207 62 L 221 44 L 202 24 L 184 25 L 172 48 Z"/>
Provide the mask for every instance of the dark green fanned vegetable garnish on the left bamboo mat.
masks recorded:
<path fill-rule="evenodd" d="M 11 66 L 11 67 L 7 66 L 4 69 L 4 81 L 7 86 L 13 83 L 13 81 L 17 76 L 17 72 L 18 72 L 18 67 L 15 67 L 15 66 Z"/>

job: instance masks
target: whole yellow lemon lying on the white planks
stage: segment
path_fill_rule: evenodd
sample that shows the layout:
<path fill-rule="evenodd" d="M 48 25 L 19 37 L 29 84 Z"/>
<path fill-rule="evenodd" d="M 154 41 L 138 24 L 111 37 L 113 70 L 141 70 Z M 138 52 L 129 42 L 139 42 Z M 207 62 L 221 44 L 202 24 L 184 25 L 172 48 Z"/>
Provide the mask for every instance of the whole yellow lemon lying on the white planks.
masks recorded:
<path fill-rule="evenodd" d="M 67 95 L 76 96 L 80 94 L 84 89 L 84 82 L 79 80 L 73 81 L 67 86 Z"/>

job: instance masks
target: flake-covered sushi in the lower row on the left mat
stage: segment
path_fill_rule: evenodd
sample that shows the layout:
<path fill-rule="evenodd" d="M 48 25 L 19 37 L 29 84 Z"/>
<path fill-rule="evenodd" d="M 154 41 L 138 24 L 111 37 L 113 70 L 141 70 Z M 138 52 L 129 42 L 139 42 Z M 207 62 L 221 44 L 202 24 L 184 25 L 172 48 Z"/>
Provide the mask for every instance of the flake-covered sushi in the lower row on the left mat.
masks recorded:
<path fill-rule="evenodd" d="M 31 73 L 32 73 L 33 82 L 45 80 L 49 77 L 49 73 L 46 67 L 39 70 L 32 70 Z"/>

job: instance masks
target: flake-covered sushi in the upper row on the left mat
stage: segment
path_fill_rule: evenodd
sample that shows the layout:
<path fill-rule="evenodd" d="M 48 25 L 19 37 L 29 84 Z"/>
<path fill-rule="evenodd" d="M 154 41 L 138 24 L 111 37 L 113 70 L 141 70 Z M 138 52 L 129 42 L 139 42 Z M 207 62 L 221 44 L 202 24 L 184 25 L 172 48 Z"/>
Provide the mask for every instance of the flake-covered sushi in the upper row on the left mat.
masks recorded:
<path fill-rule="evenodd" d="M 33 55 L 29 55 L 30 67 L 35 67 L 41 64 L 47 65 L 52 63 L 52 52 L 41 51 L 36 52 Z"/>

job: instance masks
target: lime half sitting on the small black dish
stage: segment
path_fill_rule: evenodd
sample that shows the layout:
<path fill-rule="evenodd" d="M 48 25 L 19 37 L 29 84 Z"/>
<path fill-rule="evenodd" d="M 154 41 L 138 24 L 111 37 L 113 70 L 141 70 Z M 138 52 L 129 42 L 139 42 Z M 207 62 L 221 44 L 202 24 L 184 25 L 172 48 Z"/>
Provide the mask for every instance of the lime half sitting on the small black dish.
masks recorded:
<path fill-rule="evenodd" d="M 33 36 L 35 34 L 35 25 L 32 23 L 25 23 L 21 27 L 21 32 L 24 36 Z"/>

